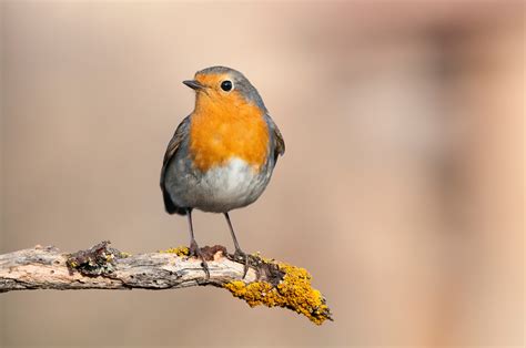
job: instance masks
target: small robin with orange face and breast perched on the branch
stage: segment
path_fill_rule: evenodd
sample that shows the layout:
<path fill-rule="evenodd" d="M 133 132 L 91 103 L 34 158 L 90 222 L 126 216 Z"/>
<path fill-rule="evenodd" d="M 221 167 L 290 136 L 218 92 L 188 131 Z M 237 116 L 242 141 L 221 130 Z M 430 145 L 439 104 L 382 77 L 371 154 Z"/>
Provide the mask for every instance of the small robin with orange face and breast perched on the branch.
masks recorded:
<path fill-rule="evenodd" d="M 192 209 L 222 213 L 235 246 L 234 256 L 249 257 L 235 237 L 229 212 L 253 203 L 269 184 L 285 143 L 257 90 L 239 71 L 206 68 L 183 81 L 195 91 L 195 108 L 175 130 L 161 170 L 161 190 L 169 214 L 188 216 L 190 255 L 209 267 L 195 242 Z"/>

